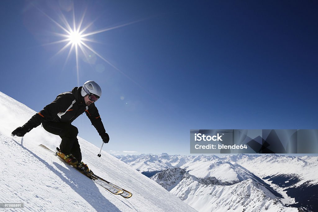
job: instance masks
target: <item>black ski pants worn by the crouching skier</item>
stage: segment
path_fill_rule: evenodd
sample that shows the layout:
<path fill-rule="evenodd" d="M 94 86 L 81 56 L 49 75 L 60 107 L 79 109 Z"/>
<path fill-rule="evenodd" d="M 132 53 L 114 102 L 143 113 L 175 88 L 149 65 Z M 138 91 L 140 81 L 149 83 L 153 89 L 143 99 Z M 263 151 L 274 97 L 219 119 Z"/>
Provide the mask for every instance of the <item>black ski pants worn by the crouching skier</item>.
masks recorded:
<path fill-rule="evenodd" d="M 63 122 L 42 122 L 42 126 L 46 131 L 62 138 L 60 144 L 61 152 L 65 155 L 72 153 L 78 162 L 82 161 L 82 153 L 77 139 L 77 134 L 79 133 L 77 127 Z"/>

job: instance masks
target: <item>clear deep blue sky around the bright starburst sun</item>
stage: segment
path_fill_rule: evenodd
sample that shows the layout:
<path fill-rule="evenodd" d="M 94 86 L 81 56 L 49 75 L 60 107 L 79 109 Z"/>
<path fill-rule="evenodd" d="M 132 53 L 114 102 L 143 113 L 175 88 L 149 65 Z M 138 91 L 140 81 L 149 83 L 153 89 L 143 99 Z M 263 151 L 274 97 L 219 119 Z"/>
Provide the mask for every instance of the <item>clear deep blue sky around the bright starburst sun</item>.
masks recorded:
<path fill-rule="evenodd" d="M 51 44 L 71 1 L 0 1 L 0 91 L 39 111 L 87 80 L 110 135 L 104 150 L 189 154 L 190 129 L 317 129 L 315 1 L 75 1 L 87 59 Z M 49 16 L 44 15 L 44 13 Z M 79 81 L 79 84 L 78 84 Z M 5 104 L 5 102 L 2 102 Z M 24 123 L 21 123 L 24 124 Z M 79 136 L 100 146 L 88 118 Z"/>

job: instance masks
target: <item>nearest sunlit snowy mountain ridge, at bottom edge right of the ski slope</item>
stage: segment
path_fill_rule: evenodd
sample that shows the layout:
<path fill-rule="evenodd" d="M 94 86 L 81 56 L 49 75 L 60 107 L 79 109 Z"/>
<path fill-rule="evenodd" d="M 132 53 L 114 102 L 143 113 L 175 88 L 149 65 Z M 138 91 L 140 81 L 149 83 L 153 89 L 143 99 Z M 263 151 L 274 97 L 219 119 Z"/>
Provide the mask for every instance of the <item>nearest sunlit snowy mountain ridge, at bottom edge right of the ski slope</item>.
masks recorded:
<path fill-rule="evenodd" d="M 297 208 L 283 206 L 265 187 L 251 179 L 232 186 L 218 186 L 202 185 L 192 178 L 185 178 L 170 192 L 200 212 L 298 211 Z"/>

